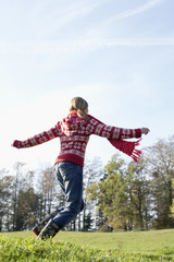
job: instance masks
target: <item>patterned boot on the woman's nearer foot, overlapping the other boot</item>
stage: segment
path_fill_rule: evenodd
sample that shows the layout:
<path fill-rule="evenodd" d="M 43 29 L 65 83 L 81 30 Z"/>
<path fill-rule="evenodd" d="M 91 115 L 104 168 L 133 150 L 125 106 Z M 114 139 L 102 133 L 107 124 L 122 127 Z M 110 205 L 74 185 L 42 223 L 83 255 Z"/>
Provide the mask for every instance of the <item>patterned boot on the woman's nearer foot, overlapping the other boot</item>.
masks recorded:
<path fill-rule="evenodd" d="M 49 238 L 53 238 L 60 230 L 61 228 L 54 223 L 54 221 L 50 219 L 41 233 L 38 235 L 37 239 L 47 240 Z"/>

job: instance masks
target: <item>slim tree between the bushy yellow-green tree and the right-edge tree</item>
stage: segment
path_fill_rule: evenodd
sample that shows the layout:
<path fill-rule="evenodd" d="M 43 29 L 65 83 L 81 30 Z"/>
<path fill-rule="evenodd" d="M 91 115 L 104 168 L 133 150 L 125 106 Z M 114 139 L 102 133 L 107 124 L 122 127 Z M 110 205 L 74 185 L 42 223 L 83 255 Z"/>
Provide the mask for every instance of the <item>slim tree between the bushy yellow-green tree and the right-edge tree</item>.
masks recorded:
<path fill-rule="evenodd" d="M 150 181 L 146 172 L 146 162 L 130 163 L 126 175 L 128 193 L 128 228 L 148 229 L 151 219 Z"/>

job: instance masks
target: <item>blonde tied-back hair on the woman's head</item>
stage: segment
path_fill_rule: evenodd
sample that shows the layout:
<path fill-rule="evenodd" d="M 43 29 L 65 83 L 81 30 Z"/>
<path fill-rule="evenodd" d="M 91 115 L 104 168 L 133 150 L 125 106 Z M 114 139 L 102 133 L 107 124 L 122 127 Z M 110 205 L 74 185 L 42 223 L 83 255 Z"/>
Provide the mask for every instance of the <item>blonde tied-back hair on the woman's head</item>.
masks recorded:
<path fill-rule="evenodd" d="M 70 111 L 77 110 L 78 117 L 86 118 L 86 119 L 88 118 L 87 116 L 88 103 L 79 96 L 76 96 L 71 100 L 69 109 Z"/>

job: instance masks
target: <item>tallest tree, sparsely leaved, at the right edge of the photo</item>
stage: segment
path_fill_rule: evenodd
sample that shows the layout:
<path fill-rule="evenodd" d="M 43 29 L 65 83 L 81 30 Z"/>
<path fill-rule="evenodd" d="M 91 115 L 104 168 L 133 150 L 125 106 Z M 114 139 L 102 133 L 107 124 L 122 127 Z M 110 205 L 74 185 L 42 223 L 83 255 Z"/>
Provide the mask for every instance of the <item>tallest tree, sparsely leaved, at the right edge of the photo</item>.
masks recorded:
<path fill-rule="evenodd" d="M 174 135 L 169 140 L 160 140 L 147 148 L 147 165 L 151 176 L 153 196 L 154 228 L 174 226 L 171 217 L 173 202 L 172 180 L 174 178 Z"/>

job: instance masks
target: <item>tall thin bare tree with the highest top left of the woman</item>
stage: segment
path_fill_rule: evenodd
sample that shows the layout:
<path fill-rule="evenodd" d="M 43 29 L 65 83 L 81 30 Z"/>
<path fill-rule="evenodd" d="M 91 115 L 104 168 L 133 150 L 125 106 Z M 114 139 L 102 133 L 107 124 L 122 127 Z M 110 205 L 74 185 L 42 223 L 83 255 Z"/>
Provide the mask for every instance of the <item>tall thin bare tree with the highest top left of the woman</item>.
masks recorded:
<path fill-rule="evenodd" d="M 22 230 L 30 228 L 36 222 L 34 213 L 38 207 L 38 201 L 36 201 L 38 196 L 34 193 L 34 172 L 26 170 L 24 163 L 15 163 L 14 170 L 11 198 L 12 230 Z M 30 214 L 33 223 L 28 224 Z"/>

